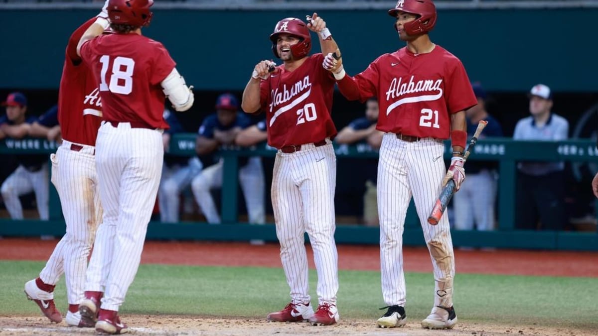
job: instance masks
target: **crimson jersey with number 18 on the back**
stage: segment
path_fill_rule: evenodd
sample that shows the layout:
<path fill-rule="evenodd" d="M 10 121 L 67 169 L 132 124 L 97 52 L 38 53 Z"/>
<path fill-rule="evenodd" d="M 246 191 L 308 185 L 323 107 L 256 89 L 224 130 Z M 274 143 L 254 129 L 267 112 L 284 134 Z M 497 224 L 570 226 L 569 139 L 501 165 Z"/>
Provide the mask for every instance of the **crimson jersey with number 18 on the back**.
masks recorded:
<path fill-rule="evenodd" d="M 137 33 L 114 33 L 85 42 L 81 57 L 99 81 L 104 120 L 168 129 L 161 82 L 176 63 L 164 45 Z"/>

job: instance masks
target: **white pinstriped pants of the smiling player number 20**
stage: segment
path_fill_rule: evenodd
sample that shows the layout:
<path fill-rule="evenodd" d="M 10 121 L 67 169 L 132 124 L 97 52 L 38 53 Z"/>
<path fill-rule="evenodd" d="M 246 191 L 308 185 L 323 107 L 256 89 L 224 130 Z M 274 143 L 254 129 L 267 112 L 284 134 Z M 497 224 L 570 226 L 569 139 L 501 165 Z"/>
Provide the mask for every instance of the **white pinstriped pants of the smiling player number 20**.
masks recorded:
<path fill-rule="evenodd" d="M 331 144 L 303 145 L 278 152 L 271 196 L 280 242 L 280 260 L 294 303 L 310 301 L 304 233 L 309 235 L 318 271 L 319 303 L 336 303 L 338 255 L 334 242 L 336 157 Z"/>

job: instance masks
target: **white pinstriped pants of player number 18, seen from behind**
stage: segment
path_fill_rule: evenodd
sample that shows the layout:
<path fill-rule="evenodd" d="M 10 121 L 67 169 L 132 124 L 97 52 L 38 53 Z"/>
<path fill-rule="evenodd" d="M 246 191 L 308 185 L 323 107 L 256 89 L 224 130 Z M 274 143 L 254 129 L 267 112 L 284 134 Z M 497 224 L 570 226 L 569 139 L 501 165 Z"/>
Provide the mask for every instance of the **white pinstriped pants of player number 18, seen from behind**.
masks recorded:
<path fill-rule="evenodd" d="M 128 123 L 118 127 L 104 123 L 97 133 L 96 167 L 104 214 L 87 270 L 86 291 L 104 292 L 102 309 L 118 310 L 139 268 L 162 172 L 161 133 L 132 129 Z"/>

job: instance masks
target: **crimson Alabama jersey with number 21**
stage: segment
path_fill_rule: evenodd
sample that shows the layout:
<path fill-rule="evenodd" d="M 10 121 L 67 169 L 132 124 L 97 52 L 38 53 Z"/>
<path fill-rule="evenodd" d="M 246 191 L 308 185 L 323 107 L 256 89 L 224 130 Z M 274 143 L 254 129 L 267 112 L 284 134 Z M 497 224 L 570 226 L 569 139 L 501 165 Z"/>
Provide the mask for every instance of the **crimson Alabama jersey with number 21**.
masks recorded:
<path fill-rule="evenodd" d="M 439 45 L 425 54 L 407 47 L 383 54 L 338 88 L 347 99 L 377 97 L 376 129 L 420 138 L 448 139 L 450 114 L 477 104 L 463 64 Z"/>

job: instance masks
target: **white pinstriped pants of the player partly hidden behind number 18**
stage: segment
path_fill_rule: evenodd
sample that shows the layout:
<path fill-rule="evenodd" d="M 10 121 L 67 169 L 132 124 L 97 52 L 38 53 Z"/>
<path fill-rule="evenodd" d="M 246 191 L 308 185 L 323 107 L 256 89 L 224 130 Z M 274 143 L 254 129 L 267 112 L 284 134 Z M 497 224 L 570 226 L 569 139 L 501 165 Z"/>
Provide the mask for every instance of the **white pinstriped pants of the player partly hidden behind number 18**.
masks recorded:
<path fill-rule="evenodd" d="M 94 147 L 80 145 L 71 151 L 72 142 L 63 140 L 56 154 L 51 154 L 51 181 L 58 191 L 66 234 L 39 273 L 48 285 L 56 285 L 65 273 L 69 304 L 83 300 L 87 256 L 93 246 L 97 224 L 102 220 L 102 206 L 97 188 Z"/>

